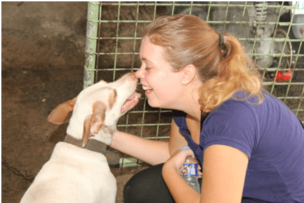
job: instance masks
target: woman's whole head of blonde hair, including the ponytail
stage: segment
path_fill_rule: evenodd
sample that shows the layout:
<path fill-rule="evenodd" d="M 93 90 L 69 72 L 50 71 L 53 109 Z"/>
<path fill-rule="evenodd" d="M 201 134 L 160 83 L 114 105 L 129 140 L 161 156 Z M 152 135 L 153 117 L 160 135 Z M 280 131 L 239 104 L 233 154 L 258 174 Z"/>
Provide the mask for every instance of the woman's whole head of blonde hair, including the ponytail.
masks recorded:
<path fill-rule="evenodd" d="M 164 48 L 164 60 L 173 72 L 190 64 L 196 67 L 203 83 L 199 105 L 204 113 L 239 90 L 247 92 L 248 98 L 257 96 L 257 104 L 263 102 L 261 76 L 234 36 L 224 34 L 224 44 L 219 45 L 220 36 L 210 25 L 199 17 L 182 14 L 156 19 L 146 26 L 144 36 Z"/>

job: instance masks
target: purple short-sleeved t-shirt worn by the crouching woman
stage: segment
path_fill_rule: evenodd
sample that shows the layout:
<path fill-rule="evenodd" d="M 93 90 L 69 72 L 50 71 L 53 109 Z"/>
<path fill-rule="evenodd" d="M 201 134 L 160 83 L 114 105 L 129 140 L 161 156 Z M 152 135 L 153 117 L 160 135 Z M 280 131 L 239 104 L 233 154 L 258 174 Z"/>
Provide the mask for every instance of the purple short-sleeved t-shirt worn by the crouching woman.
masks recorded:
<path fill-rule="evenodd" d="M 281 101 L 263 96 L 260 105 L 233 99 L 221 104 L 204 120 L 199 145 L 186 127 L 186 114 L 173 111 L 173 118 L 201 163 L 210 145 L 247 154 L 243 202 L 304 202 L 304 129 Z"/>

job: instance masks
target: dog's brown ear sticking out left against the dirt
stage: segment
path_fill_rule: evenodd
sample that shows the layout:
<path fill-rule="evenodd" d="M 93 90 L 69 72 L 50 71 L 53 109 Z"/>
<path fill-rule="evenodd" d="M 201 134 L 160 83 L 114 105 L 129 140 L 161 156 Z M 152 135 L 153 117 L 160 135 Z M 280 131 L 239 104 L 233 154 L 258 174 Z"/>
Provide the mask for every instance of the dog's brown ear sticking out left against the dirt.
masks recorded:
<path fill-rule="evenodd" d="M 65 118 L 67 118 L 69 113 L 74 110 L 76 99 L 77 97 L 58 105 L 58 107 L 51 112 L 50 116 L 47 117 L 47 121 L 55 125 L 63 124 L 63 122 L 65 122 Z"/>

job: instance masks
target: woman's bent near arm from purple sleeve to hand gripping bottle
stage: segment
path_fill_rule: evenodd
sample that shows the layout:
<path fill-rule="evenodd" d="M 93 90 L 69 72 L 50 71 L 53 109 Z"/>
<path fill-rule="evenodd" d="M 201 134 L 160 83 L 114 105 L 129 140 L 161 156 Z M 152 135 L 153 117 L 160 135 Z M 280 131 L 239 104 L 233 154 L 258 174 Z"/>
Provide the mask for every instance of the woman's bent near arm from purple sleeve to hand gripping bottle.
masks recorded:
<path fill-rule="evenodd" d="M 175 153 L 163 167 L 163 177 L 175 202 L 241 202 L 248 156 L 226 145 L 211 145 L 204 152 L 201 194 L 180 176 L 179 169 L 189 154 Z"/>

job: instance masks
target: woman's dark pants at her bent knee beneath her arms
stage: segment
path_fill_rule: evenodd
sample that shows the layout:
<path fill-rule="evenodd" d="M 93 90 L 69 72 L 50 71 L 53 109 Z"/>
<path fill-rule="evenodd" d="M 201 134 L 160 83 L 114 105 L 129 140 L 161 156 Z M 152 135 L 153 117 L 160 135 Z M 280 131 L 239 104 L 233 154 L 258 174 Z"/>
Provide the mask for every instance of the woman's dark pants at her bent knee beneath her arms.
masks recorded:
<path fill-rule="evenodd" d="M 162 179 L 163 165 L 158 164 L 135 174 L 124 186 L 124 203 L 174 202 Z M 199 178 L 199 185 L 202 186 L 202 178 Z M 247 202 L 265 203 L 262 200 L 243 197 L 242 203 Z"/>

